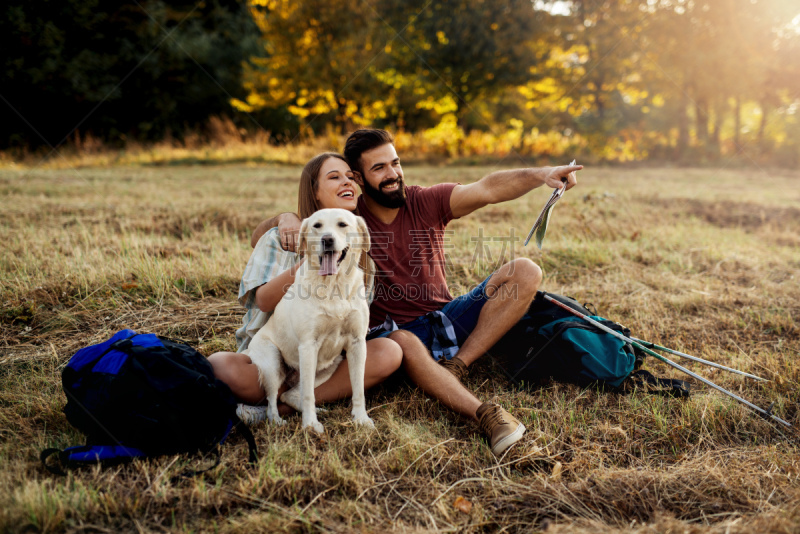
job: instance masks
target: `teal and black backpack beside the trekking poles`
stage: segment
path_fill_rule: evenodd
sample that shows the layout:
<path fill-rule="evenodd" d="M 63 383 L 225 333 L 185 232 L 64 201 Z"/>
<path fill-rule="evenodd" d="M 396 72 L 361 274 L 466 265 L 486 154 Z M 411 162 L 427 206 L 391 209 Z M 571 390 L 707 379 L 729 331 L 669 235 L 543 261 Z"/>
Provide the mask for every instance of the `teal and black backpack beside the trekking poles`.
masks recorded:
<path fill-rule="evenodd" d="M 651 392 L 689 395 L 689 384 L 682 380 L 656 378 L 647 371 L 635 370 L 644 355 L 630 343 L 548 302 L 544 295 L 542 291 L 536 294 L 527 313 L 489 351 L 514 384 L 535 386 L 553 378 L 581 387 L 621 390 L 629 379 L 630 385 Z M 628 328 L 598 317 L 575 299 L 547 295 L 630 337 Z"/>

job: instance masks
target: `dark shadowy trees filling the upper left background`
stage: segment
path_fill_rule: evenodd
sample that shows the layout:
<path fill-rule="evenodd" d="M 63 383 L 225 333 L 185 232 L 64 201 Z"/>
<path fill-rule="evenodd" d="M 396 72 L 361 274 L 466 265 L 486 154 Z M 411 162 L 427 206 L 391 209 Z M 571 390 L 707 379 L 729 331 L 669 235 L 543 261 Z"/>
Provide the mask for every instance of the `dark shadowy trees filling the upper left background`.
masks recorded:
<path fill-rule="evenodd" d="M 0 145 L 75 130 L 158 139 L 230 112 L 258 33 L 236 0 L 11 0 L 0 8 Z"/>

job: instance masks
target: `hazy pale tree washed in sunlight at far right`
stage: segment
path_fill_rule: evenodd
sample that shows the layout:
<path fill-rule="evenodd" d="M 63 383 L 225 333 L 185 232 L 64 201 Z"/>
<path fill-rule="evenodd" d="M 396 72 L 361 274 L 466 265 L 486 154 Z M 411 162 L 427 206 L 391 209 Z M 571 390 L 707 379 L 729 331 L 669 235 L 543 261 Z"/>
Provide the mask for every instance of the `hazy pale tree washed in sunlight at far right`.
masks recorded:
<path fill-rule="evenodd" d="M 791 20 L 785 7 L 781 0 L 653 3 L 650 31 L 640 42 L 661 71 L 652 87 L 667 101 L 679 159 L 719 157 L 726 119 L 734 147 L 744 145 L 746 102 L 759 103 L 763 136 L 767 111 L 780 100 L 782 86 L 775 80 L 788 67 L 778 56 L 778 29 Z M 692 130 L 695 155 L 688 150 Z"/>

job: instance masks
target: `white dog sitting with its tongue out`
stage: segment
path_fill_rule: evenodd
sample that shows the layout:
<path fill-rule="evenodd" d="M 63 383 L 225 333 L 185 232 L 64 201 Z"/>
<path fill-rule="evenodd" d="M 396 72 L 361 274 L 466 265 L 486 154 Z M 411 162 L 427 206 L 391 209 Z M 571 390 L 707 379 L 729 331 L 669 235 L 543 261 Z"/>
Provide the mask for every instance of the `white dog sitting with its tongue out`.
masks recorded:
<path fill-rule="evenodd" d="M 302 412 L 303 428 L 324 432 L 317 420 L 314 388 L 331 377 L 344 350 L 353 389 L 353 420 L 374 426 L 364 404 L 369 307 L 364 273 L 358 268 L 362 251 L 368 249 L 364 219 L 347 210 L 317 211 L 300 226 L 298 250 L 305 252 L 305 262 L 248 350 L 267 393 L 271 422 L 285 423 L 277 408 L 278 388 L 286 377 L 282 357 L 300 372 L 300 382 L 281 400 Z"/>

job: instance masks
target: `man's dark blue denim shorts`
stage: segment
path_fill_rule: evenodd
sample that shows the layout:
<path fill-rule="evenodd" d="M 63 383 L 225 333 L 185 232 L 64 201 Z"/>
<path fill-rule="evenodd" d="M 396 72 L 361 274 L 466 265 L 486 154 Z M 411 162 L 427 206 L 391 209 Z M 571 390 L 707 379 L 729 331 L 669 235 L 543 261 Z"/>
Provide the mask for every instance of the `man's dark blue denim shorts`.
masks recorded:
<path fill-rule="evenodd" d="M 489 300 L 489 297 L 486 295 L 486 284 L 489 282 L 489 278 L 491 278 L 491 276 L 475 286 L 470 292 L 454 298 L 439 310 L 446 315 L 453 324 L 453 330 L 455 331 L 458 345 L 462 345 L 464 341 L 466 341 L 467 337 L 469 337 L 475 329 L 475 325 L 478 324 L 478 317 L 481 314 L 483 305 Z M 408 330 L 413 333 L 422 341 L 423 345 L 428 347 L 428 350 L 431 349 L 434 330 L 432 319 L 429 315 L 423 315 L 411 322 L 398 325 L 398 329 Z M 375 337 L 386 337 L 389 334 L 391 334 L 391 332 L 382 332 Z"/>

